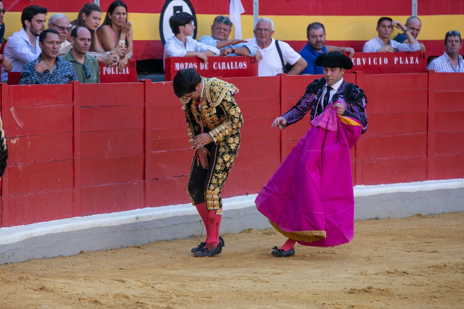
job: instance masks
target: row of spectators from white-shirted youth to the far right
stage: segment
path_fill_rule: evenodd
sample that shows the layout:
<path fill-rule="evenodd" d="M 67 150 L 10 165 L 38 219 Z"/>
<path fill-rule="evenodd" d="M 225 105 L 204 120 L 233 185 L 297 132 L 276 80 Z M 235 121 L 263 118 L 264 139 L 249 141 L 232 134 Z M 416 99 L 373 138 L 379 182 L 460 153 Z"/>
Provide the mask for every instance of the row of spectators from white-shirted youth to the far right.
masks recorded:
<path fill-rule="evenodd" d="M 174 36 L 166 40 L 164 45 L 164 59 L 166 57 L 199 57 L 204 62 L 208 56 L 255 56 L 258 61 L 258 76 L 274 76 L 280 73 L 288 75 L 322 74 L 322 67 L 315 64 L 315 59 L 322 53 L 340 51 L 354 56 L 352 47 L 339 47 L 325 45 L 326 33 L 322 23 L 313 22 L 308 25 L 306 37 L 308 43 L 297 53 L 291 46 L 283 41 L 272 38 L 274 22 L 266 17 L 257 20 L 253 28 L 254 38 L 246 40 L 229 39 L 232 32 L 232 22 L 224 15 L 219 15 L 211 25 L 211 35 L 203 36 L 198 41 L 190 38 L 195 25 L 193 16 L 189 13 L 176 13 L 169 19 Z M 378 36 L 364 44 L 363 52 L 391 52 L 396 51 L 425 51 L 425 45 L 417 41 L 422 23 L 417 17 L 410 17 L 403 25 L 398 20 L 381 17 L 377 21 Z M 400 29 L 393 40 L 390 39 L 394 29 Z M 459 32 L 449 32 L 445 38 L 445 53 L 429 64 L 437 72 L 442 71 L 445 65 L 436 65 L 439 61 L 446 62 L 446 72 L 464 72 L 460 65 L 462 57 L 459 55 L 461 36 Z M 447 43 L 447 39 L 454 43 Z M 450 47 L 448 47 L 448 45 Z M 451 47 L 452 46 L 452 47 Z M 455 56 L 453 56 L 454 54 Z M 451 69 L 452 68 L 452 69 Z"/>

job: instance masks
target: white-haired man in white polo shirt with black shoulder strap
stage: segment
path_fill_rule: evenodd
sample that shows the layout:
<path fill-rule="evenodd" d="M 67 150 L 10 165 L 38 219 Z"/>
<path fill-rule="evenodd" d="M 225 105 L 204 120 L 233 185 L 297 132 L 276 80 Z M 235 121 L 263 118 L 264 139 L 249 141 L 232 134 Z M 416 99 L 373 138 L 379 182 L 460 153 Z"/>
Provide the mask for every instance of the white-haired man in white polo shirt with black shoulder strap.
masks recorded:
<path fill-rule="evenodd" d="M 258 76 L 276 76 L 279 73 L 299 75 L 308 63 L 293 50 L 289 44 L 272 38 L 274 22 L 262 17 L 258 19 L 253 31 L 255 38 L 247 39 L 248 44 L 256 48 L 263 55 L 258 63 Z M 279 50 L 282 56 L 279 56 Z M 287 64 L 293 67 L 289 67 Z"/>

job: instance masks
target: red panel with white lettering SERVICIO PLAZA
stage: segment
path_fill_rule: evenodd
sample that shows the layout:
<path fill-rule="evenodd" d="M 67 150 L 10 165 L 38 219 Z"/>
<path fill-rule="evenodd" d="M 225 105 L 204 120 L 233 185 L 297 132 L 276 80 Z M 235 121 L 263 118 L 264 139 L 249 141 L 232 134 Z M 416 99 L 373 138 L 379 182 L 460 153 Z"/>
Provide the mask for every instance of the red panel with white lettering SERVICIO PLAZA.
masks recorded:
<path fill-rule="evenodd" d="M 427 67 L 425 52 L 357 52 L 351 61 L 353 69 L 348 72 L 362 71 L 363 74 L 423 73 Z"/>

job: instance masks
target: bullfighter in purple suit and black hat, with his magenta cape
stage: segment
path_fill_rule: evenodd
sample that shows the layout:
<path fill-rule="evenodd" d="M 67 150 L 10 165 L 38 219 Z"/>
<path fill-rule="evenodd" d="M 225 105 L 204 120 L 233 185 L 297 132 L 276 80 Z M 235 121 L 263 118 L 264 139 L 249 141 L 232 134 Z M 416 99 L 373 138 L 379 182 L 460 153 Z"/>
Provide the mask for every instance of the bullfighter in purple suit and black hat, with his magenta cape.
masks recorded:
<path fill-rule="evenodd" d="M 295 243 L 337 246 L 353 239 L 354 194 L 349 150 L 367 130 L 366 95 L 345 82 L 351 60 L 338 51 L 316 58 L 324 77 L 310 83 L 303 97 L 277 117 L 281 129 L 310 111 L 312 127 L 264 185 L 256 207 L 288 240 L 272 255 L 290 257 Z"/>

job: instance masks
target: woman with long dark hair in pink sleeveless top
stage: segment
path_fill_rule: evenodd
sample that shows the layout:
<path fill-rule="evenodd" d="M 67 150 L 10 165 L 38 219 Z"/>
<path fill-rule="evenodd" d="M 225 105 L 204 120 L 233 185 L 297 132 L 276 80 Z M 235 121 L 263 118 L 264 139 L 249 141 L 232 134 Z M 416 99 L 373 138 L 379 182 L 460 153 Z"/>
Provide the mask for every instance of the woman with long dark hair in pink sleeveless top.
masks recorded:
<path fill-rule="evenodd" d="M 97 31 L 98 39 L 104 50 L 116 48 L 119 41 L 125 41 L 126 54 L 121 58 L 119 71 L 122 71 L 132 58 L 132 25 L 127 20 L 127 6 L 123 1 L 113 1 L 108 7 L 103 25 Z"/>

